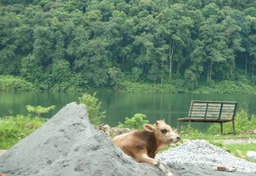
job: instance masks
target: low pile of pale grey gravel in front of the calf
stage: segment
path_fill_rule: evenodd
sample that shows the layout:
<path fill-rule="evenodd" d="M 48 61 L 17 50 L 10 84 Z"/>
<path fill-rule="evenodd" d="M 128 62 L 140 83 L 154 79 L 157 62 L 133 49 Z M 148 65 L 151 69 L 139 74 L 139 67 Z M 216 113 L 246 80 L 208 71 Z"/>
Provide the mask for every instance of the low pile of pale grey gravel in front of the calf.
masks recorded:
<path fill-rule="evenodd" d="M 186 142 L 156 156 L 166 164 L 201 167 L 226 166 L 239 172 L 256 173 L 256 163 L 237 158 L 226 150 L 213 146 L 205 140 Z"/>

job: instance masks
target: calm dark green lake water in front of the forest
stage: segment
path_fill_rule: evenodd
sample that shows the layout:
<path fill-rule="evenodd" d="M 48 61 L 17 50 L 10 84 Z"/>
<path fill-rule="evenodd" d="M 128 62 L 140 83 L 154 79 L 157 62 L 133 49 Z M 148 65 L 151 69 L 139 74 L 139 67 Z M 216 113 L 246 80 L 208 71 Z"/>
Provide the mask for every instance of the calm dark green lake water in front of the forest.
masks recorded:
<path fill-rule="evenodd" d="M 82 93 L 76 92 L 1 92 L 0 117 L 10 114 L 27 114 L 26 105 L 51 106 L 56 108 L 45 117 L 52 117 L 69 102 L 78 102 Z M 106 110 L 104 123 L 110 126 L 124 122 L 124 118 L 142 113 L 154 122 L 165 118 L 171 126 L 177 126 L 177 118 L 184 118 L 188 113 L 191 100 L 217 100 L 248 104 L 250 114 L 256 114 L 256 95 L 238 94 L 134 94 L 120 92 L 98 92 L 97 97 Z M 186 124 L 186 123 L 185 123 Z M 192 126 L 204 129 L 206 123 L 193 123 Z"/>

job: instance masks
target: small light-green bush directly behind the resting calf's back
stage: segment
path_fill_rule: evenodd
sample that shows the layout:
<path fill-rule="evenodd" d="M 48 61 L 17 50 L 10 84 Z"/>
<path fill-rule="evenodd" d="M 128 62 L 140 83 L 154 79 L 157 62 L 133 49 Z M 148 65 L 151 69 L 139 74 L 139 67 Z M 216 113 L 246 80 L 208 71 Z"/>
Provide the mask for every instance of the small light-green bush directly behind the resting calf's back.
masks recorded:
<path fill-rule="evenodd" d="M 125 122 L 119 122 L 118 128 L 129 128 L 134 130 L 143 130 L 143 125 L 149 123 L 144 114 L 134 114 L 131 118 L 125 118 Z"/>

